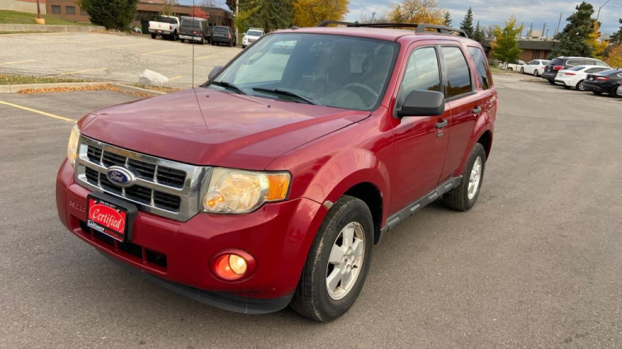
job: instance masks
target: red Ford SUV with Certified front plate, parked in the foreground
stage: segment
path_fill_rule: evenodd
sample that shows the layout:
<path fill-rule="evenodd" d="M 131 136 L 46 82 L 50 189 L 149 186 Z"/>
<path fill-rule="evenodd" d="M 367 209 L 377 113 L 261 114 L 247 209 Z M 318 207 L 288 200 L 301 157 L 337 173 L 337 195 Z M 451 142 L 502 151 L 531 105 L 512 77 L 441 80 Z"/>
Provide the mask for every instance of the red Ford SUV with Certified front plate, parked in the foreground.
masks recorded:
<path fill-rule="evenodd" d="M 497 94 L 460 30 L 327 24 L 267 34 L 198 88 L 83 117 L 58 171 L 62 223 L 216 307 L 345 313 L 385 233 L 439 198 L 475 204 Z"/>

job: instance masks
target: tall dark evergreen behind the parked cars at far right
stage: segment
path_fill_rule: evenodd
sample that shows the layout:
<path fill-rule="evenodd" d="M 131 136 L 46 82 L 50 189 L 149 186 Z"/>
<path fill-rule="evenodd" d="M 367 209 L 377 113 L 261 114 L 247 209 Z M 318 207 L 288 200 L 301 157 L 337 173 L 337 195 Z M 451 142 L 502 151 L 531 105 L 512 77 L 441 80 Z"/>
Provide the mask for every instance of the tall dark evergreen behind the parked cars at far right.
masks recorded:
<path fill-rule="evenodd" d="M 594 31 L 592 14 L 594 7 L 583 1 L 577 12 L 568 17 L 568 24 L 555 35 L 559 43 L 550 52 L 550 58 L 560 56 L 592 57 L 593 48 L 589 43 L 590 34 Z"/>

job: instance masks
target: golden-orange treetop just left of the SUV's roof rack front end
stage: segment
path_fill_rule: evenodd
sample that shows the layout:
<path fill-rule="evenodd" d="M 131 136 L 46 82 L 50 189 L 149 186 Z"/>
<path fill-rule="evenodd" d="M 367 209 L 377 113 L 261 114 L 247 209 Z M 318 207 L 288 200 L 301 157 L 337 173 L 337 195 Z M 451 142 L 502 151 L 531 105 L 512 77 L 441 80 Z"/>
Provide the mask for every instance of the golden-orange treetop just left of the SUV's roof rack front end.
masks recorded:
<path fill-rule="evenodd" d="M 343 20 L 350 0 L 295 0 L 294 24 L 315 27 L 323 20 Z"/>

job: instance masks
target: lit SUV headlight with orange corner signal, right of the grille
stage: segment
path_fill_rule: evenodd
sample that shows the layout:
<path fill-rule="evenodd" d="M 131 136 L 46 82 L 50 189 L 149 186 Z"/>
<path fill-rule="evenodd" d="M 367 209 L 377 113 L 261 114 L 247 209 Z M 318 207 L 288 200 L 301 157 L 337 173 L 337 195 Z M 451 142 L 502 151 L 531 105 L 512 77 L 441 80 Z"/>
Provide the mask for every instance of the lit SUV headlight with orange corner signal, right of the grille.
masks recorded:
<path fill-rule="evenodd" d="M 203 211 L 211 213 L 246 213 L 264 202 L 287 197 L 290 174 L 215 168 L 211 173 Z"/>

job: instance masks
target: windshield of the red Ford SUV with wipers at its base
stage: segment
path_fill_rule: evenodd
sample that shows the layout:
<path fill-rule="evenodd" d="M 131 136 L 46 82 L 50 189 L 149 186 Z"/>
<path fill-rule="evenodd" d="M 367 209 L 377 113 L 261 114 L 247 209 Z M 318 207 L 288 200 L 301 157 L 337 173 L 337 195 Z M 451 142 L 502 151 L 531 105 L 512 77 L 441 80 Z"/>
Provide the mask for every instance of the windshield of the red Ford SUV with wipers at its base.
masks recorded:
<path fill-rule="evenodd" d="M 301 102 L 301 98 L 258 89 L 277 89 L 313 104 L 371 110 L 390 78 L 397 44 L 325 34 L 271 34 L 249 47 L 214 81 L 245 94 Z M 226 89 L 210 85 L 210 88 Z"/>

